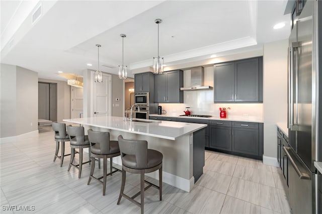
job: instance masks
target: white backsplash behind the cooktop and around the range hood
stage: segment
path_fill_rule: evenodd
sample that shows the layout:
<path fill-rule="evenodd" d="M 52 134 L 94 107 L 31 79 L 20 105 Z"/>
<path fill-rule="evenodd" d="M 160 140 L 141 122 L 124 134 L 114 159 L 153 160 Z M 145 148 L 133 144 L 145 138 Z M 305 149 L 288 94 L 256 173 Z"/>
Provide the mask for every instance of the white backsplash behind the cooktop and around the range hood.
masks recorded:
<path fill-rule="evenodd" d="M 213 67 L 204 68 L 204 85 L 213 87 Z M 184 87 L 190 86 L 190 70 L 184 71 Z M 219 108 L 230 108 L 227 117 L 263 118 L 263 103 L 213 103 L 213 88 L 207 90 L 184 91 L 184 103 L 159 103 L 162 110 L 169 115 L 183 115 L 186 107 L 190 107 L 193 115 L 211 115 L 219 117 Z"/>

